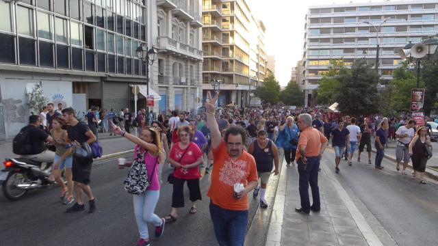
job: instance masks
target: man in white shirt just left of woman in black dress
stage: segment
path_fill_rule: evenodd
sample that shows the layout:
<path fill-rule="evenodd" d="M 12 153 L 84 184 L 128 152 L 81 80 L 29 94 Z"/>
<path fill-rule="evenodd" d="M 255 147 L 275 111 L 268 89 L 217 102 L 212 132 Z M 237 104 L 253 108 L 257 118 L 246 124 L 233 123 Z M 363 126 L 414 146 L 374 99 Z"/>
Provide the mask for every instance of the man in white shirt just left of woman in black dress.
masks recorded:
<path fill-rule="evenodd" d="M 397 171 L 400 170 L 400 162 L 403 160 L 403 170 L 402 174 L 408 175 L 406 167 L 409 163 L 409 143 L 411 143 L 412 138 L 414 137 L 415 131 L 413 130 L 413 126 L 415 126 L 417 122 L 415 120 L 409 120 L 406 126 L 400 126 L 396 131 L 397 137 L 397 148 L 396 148 L 396 161 Z"/>

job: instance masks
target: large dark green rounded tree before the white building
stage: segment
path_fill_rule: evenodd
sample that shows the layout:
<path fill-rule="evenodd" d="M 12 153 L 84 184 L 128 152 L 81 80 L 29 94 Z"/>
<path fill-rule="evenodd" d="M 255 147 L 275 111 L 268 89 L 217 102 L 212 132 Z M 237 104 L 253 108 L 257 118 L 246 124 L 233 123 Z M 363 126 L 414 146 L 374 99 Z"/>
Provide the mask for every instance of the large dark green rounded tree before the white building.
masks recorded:
<path fill-rule="evenodd" d="M 351 69 L 341 68 L 335 79 L 339 82 L 335 87 L 339 92 L 335 94 L 339 111 L 350 115 L 378 112 L 380 75 L 367 64 L 367 59 L 355 59 Z"/>

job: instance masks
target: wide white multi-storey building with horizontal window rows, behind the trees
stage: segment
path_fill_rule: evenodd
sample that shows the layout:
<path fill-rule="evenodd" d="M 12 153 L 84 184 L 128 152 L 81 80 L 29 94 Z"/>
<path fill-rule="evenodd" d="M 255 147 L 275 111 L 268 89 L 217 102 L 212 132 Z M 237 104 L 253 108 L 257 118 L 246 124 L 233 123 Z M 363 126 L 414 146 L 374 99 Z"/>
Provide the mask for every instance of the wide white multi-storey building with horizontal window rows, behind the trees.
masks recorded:
<path fill-rule="evenodd" d="M 393 70 L 400 66 L 399 48 L 437 35 L 437 12 L 435 0 L 311 6 L 305 17 L 300 81 L 306 94 L 305 105 L 314 102 L 312 92 L 331 65 L 330 58 L 343 57 L 350 66 L 355 59 L 365 57 L 369 64 L 375 64 L 377 42 L 380 44 L 378 72 L 383 83 L 387 83 Z M 383 24 L 376 33 L 369 23 L 375 27 Z"/>

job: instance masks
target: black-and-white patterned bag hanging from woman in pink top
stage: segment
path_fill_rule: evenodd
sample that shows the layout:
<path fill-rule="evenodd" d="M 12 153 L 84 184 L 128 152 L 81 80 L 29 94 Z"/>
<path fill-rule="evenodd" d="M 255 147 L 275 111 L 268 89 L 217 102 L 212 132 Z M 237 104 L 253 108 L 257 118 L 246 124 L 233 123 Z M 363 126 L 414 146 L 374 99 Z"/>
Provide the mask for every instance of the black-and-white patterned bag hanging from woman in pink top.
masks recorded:
<path fill-rule="evenodd" d="M 138 146 L 136 146 L 136 153 L 137 150 Z M 129 169 L 128 176 L 123 182 L 125 185 L 125 191 L 133 195 L 142 195 L 144 191 L 151 186 L 151 180 L 153 178 L 153 174 L 155 173 L 155 167 L 157 166 L 159 156 L 157 156 L 155 165 L 153 166 L 151 180 L 148 180 L 148 171 L 146 168 L 146 163 L 144 163 L 144 156 L 146 156 L 146 153 L 147 150 L 144 151 L 143 154 L 140 154 L 140 159 L 138 156 L 136 156 L 136 159 L 134 159 L 132 166 Z"/>

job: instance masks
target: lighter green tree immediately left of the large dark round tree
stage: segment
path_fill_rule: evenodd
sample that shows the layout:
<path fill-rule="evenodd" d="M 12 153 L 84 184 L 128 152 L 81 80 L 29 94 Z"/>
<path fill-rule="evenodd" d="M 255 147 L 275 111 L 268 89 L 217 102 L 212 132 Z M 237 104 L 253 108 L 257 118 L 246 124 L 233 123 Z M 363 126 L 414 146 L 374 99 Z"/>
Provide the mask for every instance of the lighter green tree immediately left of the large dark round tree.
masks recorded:
<path fill-rule="evenodd" d="M 336 79 L 336 75 L 340 70 L 347 70 L 348 68 L 344 64 L 343 59 L 330 59 L 329 71 L 324 74 L 324 77 L 320 80 L 320 85 L 316 91 L 316 101 L 319 104 L 333 104 L 335 102 L 336 94 L 335 90 L 339 81 Z"/>

